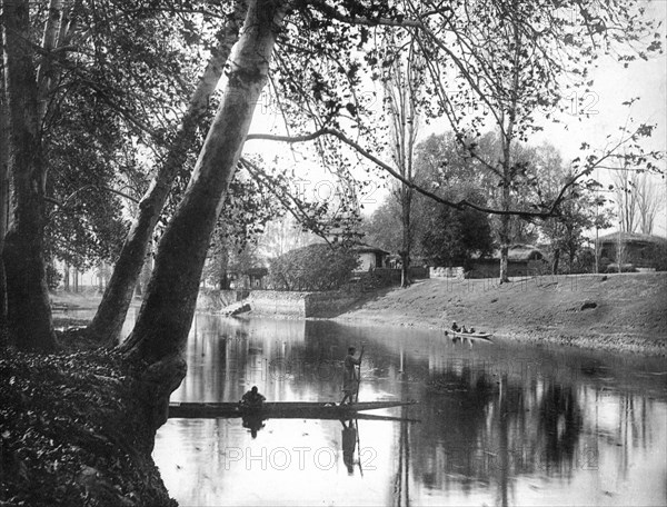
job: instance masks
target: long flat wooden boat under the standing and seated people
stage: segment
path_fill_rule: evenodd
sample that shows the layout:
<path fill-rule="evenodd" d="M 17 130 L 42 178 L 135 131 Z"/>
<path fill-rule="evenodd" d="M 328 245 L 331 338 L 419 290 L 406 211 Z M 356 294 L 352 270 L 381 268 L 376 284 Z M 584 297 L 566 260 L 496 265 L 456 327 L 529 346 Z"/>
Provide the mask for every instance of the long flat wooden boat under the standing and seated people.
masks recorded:
<path fill-rule="evenodd" d="M 320 401 L 269 401 L 260 408 L 242 407 L 238 402 L 170 402 L 169 417 L 180 418 L 233 418 L 252 417 L 260 419 L 347 419 L 362 418 L 359 411 L 379 408 L 394 408 L 414 405 L 415 401 L 361 401 L 351 405 L 336 405 Z M 375 416 L 367 418 L 381 418 Z M 391 418 L 395 419 L 395 418 Z M 396 418 L 400 419 L 400 418 Z"/>

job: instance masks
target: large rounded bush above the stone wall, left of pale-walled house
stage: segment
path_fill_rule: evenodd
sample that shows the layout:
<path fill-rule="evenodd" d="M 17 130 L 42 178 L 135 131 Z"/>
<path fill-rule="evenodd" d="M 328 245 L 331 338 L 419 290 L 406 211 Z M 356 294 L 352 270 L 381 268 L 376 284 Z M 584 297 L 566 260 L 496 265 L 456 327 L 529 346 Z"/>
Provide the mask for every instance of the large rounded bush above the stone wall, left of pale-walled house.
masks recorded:
<path fill-rule="evenodd" d="M 269 261 L 269 285 L 278 290 L 334 290 L 349 282 L 359 266 L 357 255 L 317 243 Z"/>

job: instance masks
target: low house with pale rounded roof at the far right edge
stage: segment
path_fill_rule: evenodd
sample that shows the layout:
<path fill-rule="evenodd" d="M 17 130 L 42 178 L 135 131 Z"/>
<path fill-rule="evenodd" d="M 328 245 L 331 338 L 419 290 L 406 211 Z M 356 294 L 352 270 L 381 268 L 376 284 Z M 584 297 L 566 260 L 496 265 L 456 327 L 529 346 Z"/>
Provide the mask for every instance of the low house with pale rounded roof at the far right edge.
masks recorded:
<path fill-rule="evenodd" d="M 597 239 L 600 271 L 666 269 L 667 239 L 636 232 L 611 232 Z M 618 255 L 620 252 L 620 256 Z"/>

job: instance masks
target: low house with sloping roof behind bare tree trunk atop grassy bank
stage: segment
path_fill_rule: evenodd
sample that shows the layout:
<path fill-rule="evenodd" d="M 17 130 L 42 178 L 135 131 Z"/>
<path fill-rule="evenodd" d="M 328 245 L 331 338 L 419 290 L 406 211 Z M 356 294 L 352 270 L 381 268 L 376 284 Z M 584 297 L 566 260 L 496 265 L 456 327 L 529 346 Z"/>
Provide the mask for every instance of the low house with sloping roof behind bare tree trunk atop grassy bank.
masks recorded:
<path fill-rule="evenodd" d="M 478 257 L 471 261 L 471 269 L 467 278 L 495 278 L 500 270 L 500 250 L 494 251 L 491 257 Z M 548 270 L 545 254 L 531 245 L 512 245 L 507 252 L 507 276 L 525 277 L 540 275 Z"/>

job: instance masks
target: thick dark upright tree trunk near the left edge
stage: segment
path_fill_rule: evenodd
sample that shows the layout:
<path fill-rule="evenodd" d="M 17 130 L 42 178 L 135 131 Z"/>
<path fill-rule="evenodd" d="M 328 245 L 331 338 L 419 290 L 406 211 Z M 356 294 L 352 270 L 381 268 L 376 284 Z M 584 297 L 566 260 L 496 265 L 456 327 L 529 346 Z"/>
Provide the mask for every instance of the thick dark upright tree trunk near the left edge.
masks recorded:
<path fill-rule="evenodd" d="M 43 257 L 46 171 L 29 2 L 3 2 L 6 96 L 9 110 L 10 226 L 2 257 L 8 325 L 18 347 L 56 348 Z"/>

